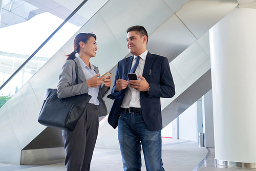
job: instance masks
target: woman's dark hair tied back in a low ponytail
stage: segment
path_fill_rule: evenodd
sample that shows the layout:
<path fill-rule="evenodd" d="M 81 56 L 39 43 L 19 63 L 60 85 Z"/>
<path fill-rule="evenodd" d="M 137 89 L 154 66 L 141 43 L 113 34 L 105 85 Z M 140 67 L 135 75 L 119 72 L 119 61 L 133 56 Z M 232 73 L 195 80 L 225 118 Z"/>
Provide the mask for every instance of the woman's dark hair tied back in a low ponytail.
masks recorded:
<path fill-rule="evenodd" d="M 74 39 L 74 52 L 72 52 L 71 54 L 68 54 L 68 58 L 69 59 L 75 59 L 76 58 L 76 53 L 79 53 L 79 48 L 80 48 L 80 41 L 87 43 L 87 41 L 90 39 L 90 37 L 94 37 L 96 40 L 96 35 L 92 34 L 92 33 L 79 33 L 76 35 L 75 39 Z"/>

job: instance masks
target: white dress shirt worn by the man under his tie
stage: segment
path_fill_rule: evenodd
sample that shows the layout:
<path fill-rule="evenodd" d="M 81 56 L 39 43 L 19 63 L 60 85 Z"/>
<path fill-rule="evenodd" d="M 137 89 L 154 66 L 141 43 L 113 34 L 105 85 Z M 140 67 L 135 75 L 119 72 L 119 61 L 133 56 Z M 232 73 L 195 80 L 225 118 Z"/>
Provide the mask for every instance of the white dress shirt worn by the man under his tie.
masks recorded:
<path fill-rule="evenodd" d="M 134 72 L 135 74 L 137 74 L 137 76 L 140 76 L 140 75 L 142 76 L 142 74 L 143 74 L 146 55 L 147 55 L 147 50 L 139 55 L 140 56 L 139 65 Z M 133 62 L 132 62 L 131 69 L 135 65 L 136 57 L 137 56 L 133 56 Z M 139 79 L 139 80 L 141 80 L 141 79 Z M 127 86 L 127 90 L 125 91 L 123 102 L 121 104 L 121 108 L 141 108 L 140 91 L 135 90 L 134 88 L 132 88 L 130 86 Z"/>

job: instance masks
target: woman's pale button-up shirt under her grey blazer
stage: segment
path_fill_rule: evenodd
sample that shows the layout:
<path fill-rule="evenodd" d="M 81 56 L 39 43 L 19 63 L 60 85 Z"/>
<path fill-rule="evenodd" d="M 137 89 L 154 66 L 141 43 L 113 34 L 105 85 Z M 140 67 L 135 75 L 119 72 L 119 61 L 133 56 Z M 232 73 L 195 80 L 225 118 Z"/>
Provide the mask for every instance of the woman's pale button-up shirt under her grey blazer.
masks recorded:
<path fill-rule="evenodd" d="M 82 59 L 78 56 L 80 65 L 82 67 L 82 71 L 84 73 L 84 76 L 86 76 L 86 80 L 89 80 L 93 76 L 97 75 L 97 73 L 94 71 L 94 67 L 92 63 L 90 62 L 90 67 L 91 69 L 82 61 Z M 100 85 L 96 88 L 89 87 L 88 88 L 88 94 L 92 96 L 90 99 L 89 103 L 94 104 L 94 105 L 99 105 L 99 100 L 98 100 L 98 94 L 99 94 L 99 88 Z"/>

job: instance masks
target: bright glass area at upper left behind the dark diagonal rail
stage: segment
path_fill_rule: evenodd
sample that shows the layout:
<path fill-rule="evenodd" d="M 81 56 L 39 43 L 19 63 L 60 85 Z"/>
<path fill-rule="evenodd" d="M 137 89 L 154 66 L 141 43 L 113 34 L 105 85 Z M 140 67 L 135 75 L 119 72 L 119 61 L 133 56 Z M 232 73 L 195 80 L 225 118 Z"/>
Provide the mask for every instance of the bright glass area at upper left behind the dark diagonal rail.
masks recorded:
<path fill-rule="evenodd" d="M 65 14 L 59 18 L 49 12 L 40 11 L 40 6 L 33 6 L 27 2 L 20 5 L 26 8 L 27 15 L 17 22 L 11 21 L 11 1 L 3 1 L 0 26 L 0 84 L 2 85 L 37 48 L 63 23 L 72 11 L 69 4 L 59 1 L 60 8 Z M 81 0 L 82 2 L 82 0 Z M 90 3 L 89 3 L 90 2 Z M 66 42 L 99 10 L 108 0 L 89 0 L 69 21 L 34 55 L 33 58 L 6 84 L 0 91 L 0 108 L 11 98 Z M 43 5 L 44 2 L 41 2 Z M 59 5 L 58 4 L 58 5 Z M 93 4 L 93 5 L 92 5 Z M 28 8 L 29 7 L 29 8 Z M 18 7 L 15 6 L 17 9 Z M 29 16 L 30 11 L 38 9 L 39 14 Z M 93 10 L 92 10 L 93 9 Z M 97 9 L 97 10 L 96 10 Z M 52 11 L 51 11 L 52 12 Z M 55 11 L 56 12 L 56 11 Z M 63 12 L 63 10 L 62 10 Z M 69 13 L 70 12 L 70 13 Z M 54 12 L 53 12 L 54 13 Z M 15 14 L 16 15 L 16 14 Z"/>

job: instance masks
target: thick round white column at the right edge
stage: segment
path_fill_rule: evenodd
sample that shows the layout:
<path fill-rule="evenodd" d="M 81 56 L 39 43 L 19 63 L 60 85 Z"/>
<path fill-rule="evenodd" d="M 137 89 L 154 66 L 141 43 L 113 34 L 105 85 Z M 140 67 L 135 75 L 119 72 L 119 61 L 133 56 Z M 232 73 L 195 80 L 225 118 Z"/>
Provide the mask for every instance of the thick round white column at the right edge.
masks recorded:
<path fill-rule="evenodd" d="M 236 8 L 209 32 L 215 159 L 222 165 L 256 166 L 255 18 L 255 9 Z"/>

